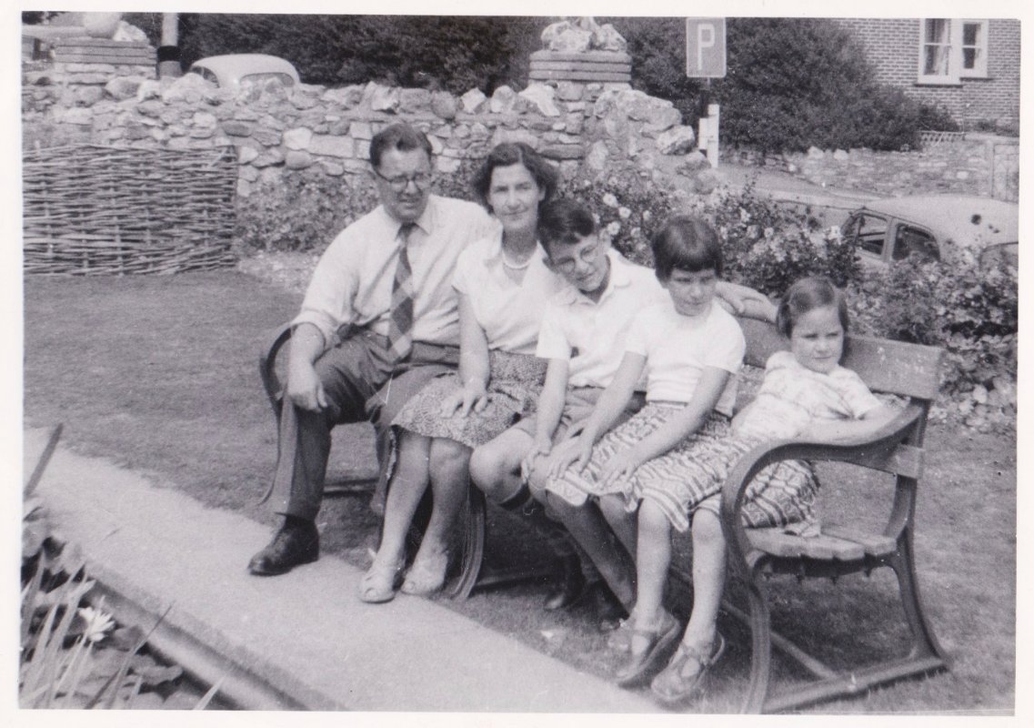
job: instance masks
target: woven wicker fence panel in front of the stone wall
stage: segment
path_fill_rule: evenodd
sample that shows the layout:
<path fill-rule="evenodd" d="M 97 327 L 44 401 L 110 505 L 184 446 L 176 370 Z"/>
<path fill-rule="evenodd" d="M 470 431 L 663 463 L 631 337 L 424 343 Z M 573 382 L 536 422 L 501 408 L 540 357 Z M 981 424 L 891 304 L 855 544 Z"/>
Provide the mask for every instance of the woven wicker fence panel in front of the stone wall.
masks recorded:
<path fill-rule="evenodd" d="M 74 145 L 23 160 L 27 274 L 168 274 L 232 266 L 233 151 Z"/>

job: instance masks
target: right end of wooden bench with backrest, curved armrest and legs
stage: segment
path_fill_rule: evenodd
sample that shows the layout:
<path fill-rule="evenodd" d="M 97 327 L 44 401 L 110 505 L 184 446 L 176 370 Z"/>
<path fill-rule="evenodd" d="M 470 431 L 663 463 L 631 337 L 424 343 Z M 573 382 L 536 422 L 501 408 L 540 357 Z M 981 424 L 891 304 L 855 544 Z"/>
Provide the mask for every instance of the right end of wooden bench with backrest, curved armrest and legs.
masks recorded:
<path fill-rule="evenodd" d="M 787 341 L 768 324 L 740 320 L 740 326 L 747 337 L 746 363 L 749 365 L 764 367 L 771 354 L 788 348 Z M 922 478 L 923 432 L 931 402 L 940 384 L 942 356 L 941 350 L 932 346 L 849 336 L 844 366 L 856 371 L 872 391 L 904 398 L 906 404 L 901 414 L 863 439 L 835 446 L 805 441 L 760 446 L 729 474 L 722 489 L 722 529 L 729 545 L 730 576 L 746 585 L 749 610 L 743 616 L 750 625 L 753 641 L 744 711 L 792 709 L 949 667 L 949 659 L 923 614 L 912 544 L 916 491 Z M 885 525 L 869 533 L 823 526 L 821 535 L 814 538 L 782 533 L 778 528 L 744 527 L 739 510 L 747 485 L 763 467 L 780 460 L 838 461 L 891 474 L 893 497 L 888 504 L 889 517 Z M 848 487 L 856 486 L 854 481 L 848 484 Z M 826 483 L 823 491 L 828 490 Z M 883 566 L 890 567 L 898 577 L 911 635 L 911 645 L 905 657 L 834 670 L 772 632 L 766 586 L 769 577 L 786 574 L 797 579 L 831 577 L 835 580 L 847 574 L 868 574 Z M 731 605 L 727 607 L 728 611 L 738 612 Z M 773 644 L 803 666 L 814 679 L 769 695 Z"/>

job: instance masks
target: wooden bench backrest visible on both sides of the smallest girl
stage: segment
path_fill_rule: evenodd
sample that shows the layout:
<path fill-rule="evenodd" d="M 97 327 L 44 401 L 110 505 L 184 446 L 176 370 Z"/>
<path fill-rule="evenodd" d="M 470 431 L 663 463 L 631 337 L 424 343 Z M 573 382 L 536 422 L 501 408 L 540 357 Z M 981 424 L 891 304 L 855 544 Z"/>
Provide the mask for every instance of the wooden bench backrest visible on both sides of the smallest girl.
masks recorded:
<path fill-rule="evenodd" d="M 738 318 L 738 322 L 747 338 L 747 364 L 764 368 L 768 357 L 790 348 L 790 342 L 772 324 L 755 318 Z M 857 372 L 874 392 L 930 401 L 940 389 L 943 356 L 944 352 L 936 346 L 848 336 L 841 363 Z"/>

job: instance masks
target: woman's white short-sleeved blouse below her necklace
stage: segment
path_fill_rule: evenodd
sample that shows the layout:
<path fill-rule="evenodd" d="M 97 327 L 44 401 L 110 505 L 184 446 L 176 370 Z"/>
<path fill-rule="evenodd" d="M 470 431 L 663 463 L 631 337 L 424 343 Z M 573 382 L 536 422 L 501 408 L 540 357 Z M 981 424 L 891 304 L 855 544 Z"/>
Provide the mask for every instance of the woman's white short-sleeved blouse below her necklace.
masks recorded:
<path fill-rule="evenodd" d="M 490 350 L 535 354 L 546 302 L 565 280 L 546 268 L 537 245 L 524 278 L 513 281 L 503 268 L 503 233 L 469 245 L 456 260 L 453 287 L 464 294 Z"/>

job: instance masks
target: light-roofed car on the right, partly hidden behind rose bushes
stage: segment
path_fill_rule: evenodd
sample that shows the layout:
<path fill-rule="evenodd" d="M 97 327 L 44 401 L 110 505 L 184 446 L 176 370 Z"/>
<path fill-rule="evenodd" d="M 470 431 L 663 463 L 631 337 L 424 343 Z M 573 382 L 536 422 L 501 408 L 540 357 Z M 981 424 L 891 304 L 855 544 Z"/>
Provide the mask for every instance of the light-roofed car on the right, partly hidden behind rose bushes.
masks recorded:
<path fill-rule="evenodd" d="M 865 203 L 841 226 L 862 263 L 887 265 L 921 255 L 944 259 L 952 246 L 981 262 L 1018 256 L 1020 206 L 965 194 L 887 198 Z"/>

